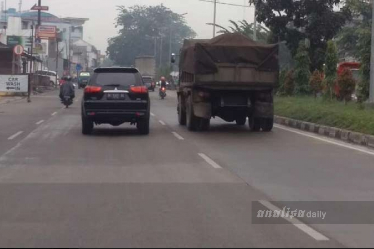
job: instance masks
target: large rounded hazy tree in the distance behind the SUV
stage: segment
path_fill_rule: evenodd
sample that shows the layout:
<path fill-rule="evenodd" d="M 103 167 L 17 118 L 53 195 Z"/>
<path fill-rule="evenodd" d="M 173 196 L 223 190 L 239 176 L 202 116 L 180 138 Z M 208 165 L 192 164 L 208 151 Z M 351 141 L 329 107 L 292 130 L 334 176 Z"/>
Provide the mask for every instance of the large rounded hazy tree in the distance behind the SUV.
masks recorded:
<path fill-rule="evenodd" d="M 161 56 L 163 65 L 167 65 L 170 58 L 170 38 L 172 52 L 177 53 L 185 38 L 196 36 L 186 25 L 183 16 L 172 12 L 163 4 L 128 8 L 119 6 L 118 11 L 115 24 L 119 28 L 119 35 L 108 39 L 107 49 L 110 59 L 118 65 L 133 65 L 136 56 L 154 55 L 155 52 L 157 63 Z M 162 55 L 160 37 L 163 37 Z"/>

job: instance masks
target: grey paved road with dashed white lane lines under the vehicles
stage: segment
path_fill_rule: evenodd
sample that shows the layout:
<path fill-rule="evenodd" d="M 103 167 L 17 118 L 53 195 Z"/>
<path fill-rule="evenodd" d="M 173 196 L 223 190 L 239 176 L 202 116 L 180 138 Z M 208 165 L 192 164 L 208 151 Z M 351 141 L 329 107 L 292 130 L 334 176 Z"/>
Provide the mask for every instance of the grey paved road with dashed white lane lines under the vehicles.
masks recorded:
<path fill-rule="evenodd" d="M 83 136 L 82 91 L 56 95 L 0 105 L 0 247 L 374 246 L 373 225 L 251 224 L 251 201 L 373 200 L 370 150 L 218 119 L 190 133 L 171 91 L 151 93 L 149 136 Z"/>

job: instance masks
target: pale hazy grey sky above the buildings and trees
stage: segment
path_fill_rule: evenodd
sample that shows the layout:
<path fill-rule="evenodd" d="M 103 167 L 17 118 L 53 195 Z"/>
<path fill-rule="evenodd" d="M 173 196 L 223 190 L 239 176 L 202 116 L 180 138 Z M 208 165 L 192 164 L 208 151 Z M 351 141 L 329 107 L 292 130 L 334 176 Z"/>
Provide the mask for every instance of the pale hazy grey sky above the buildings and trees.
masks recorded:
<path fill-rule="evenodd" d="M 3 0 L 2 0 L 3 1 Z M 248 0 L 218 0 L 223 3 L 248 4 Z M 19 0 L 7 0 L 7 7 L 18 9 Z M 22 0 L 22 10 L 30 9 L 37 0 Z M 213 3 L 199 0 L 42 0 L 43 6 L 49 6 L 49 12 L 59 17 L 82 17 L 90 20 L 85 24 L 84 38 L 105 52 L 107 38 L 117 34 L 114 19 L 117 16 L 116 6 L 157 5 L 163 3 L 172 11 L 183 14 L 187 24 L 196 31 L 199 38 L 212 37 Z M 217 4 L 217 24 L 229 25 L 234 21 L 246 19 L 253 22 L 253 8 L 243 8 Z"/>

